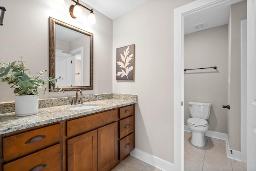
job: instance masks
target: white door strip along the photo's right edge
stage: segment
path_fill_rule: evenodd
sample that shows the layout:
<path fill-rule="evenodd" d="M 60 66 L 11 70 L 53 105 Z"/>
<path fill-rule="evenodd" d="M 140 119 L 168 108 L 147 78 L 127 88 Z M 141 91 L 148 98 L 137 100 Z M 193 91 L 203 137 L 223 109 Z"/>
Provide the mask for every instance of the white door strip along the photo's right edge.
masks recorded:
<path fill-rule="evenodd" d="M 247 0 L 247 170 L 256 170 L 256 3 Z"/>

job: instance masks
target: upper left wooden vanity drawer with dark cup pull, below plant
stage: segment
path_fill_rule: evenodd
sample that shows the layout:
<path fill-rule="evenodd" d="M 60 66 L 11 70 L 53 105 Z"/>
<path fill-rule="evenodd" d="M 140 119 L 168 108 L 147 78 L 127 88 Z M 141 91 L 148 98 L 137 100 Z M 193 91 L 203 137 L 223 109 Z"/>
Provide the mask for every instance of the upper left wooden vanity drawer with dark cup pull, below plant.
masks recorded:
<path fill-rule="evenodd" d="M 4 161 L 40 150 L 60 141 L 60 124 L 3 138 Z"/>

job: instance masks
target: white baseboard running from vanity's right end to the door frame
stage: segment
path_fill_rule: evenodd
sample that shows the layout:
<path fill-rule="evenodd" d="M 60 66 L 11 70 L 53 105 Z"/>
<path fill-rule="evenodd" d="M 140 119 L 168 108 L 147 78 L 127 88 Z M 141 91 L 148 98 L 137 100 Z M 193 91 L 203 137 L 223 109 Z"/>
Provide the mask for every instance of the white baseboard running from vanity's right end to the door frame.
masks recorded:
<path fill-rule="evenodd" d="M 163 159 L 160 159 L 154 155 L 148 154 L 144 151 L 141 151 L 139 149 L 134 149 L 130 153 L 131 156 L 140 159 L 141 161 L 144 161 L 145 163 L 148 163 L 149 165 L 152 165 L 153 167 L 156 167 L 157 169 L 160 169 L 161 171 L 173 171 L 174 165 L 168 161 L 165 161 Z"/>

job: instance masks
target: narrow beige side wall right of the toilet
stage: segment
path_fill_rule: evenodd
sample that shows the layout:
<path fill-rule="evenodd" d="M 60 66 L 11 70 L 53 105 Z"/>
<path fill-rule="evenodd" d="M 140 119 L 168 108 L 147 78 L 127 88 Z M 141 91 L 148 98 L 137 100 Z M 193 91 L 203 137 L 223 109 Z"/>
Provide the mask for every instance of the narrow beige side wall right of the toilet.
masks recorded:
<path fill-rule="evenodd" d="M 240 82 L 241 82 L 241 20 L 246 19 L 246 1 L 233 4 L 230 9 L 228 24 L 228 140 L 230 149 L 237 151 L 240 147 Z"/>

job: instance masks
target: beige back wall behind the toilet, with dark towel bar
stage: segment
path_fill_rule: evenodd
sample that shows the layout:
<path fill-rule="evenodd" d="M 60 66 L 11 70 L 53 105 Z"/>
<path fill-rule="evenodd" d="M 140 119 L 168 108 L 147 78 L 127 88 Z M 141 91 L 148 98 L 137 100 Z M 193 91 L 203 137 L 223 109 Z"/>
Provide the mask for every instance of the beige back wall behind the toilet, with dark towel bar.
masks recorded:
<path fill-rule="evenodd" d="M 184 75 L 184 125 L 190 118 L 188 102 L 212 103 L 210 131 L 227 133 L 228 25 L 187 34 L 184 37 L 184 68 L 217 66 L 217 70 L 188 70 Z"/>

